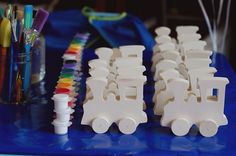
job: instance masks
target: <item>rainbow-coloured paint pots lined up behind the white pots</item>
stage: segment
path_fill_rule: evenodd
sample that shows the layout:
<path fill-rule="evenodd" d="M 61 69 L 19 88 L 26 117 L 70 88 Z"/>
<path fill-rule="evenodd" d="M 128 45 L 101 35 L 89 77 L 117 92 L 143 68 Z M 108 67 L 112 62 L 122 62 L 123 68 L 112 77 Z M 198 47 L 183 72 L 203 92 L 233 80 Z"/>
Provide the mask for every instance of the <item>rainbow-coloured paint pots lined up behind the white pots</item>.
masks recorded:
<path fill-rule="evenodd" d="M 76 34 L 71 44 L 63 55 L 63 66 L 60 72 L 54 94 L 67 94 L 70 97 L 68 106 L 75 107 L 78 98 L 78 78 L 81 66 L 81 57 L 84 45 L 89 38 L 89 34 Z"/>

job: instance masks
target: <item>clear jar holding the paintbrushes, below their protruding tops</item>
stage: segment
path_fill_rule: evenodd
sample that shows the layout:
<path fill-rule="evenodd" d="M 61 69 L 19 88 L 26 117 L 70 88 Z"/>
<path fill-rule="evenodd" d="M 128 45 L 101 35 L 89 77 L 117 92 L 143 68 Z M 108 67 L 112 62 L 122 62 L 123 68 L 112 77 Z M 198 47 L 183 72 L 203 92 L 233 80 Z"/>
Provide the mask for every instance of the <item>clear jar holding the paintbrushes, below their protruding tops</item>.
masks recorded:
<path fill-rule="evenodd" d="M 31 55 L 32 53 L 19 52 L 7 58 L 4 64 L 5 73 L 0 102 L 7 104 L 22 104 L 30 100 L 31 88 Z M 0 57 L 0 62 L 3 62 Z M 2 64 L 1 64 L 2 65 Z M 27 70 L 26 70 L 27 69 Z M 28 72 L 26 72 L 28 71 Z"/>

